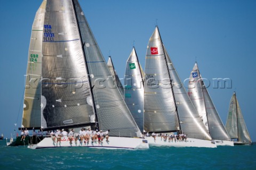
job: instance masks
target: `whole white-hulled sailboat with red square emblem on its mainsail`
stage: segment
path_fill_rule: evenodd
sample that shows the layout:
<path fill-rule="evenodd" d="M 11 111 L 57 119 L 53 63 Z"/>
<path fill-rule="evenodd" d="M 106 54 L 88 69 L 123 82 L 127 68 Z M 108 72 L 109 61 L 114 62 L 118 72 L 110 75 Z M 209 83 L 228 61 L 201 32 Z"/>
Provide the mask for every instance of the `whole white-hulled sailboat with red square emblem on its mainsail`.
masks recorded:
<path fill-rule="evenodd" d="M 187 135 L 186 140 L 170 141 L 159 136 L 147 137 L 149 145 L 217 147 L 180 81 L 157 26 L 147 46 L 144 94 L 145 131 Z"/>

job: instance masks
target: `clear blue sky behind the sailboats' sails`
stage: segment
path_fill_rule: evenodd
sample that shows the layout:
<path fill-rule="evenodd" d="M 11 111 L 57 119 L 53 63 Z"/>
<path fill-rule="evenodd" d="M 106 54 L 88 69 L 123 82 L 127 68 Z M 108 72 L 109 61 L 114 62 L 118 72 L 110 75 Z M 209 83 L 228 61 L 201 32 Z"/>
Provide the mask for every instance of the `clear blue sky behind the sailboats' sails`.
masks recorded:
<path fill-rule="evenodd" d="M 105 59 L 111 55 L 120 78 L 132 46 L 145 68 L 148 40 L 157 23 L 182 81 L 197 61 L 209 93 L 226 124 L 236 91 L 247 129 L 256 141 L 256 1 L 249 0 L 80 0 Z M 23 89 L 31 26 L 42 0 L 0 0 L 0 133 L 21 126 Z M 231 88 L 214 88 L 229 78 Z M 185 87 L 187 87 L 187 81 Z"/>

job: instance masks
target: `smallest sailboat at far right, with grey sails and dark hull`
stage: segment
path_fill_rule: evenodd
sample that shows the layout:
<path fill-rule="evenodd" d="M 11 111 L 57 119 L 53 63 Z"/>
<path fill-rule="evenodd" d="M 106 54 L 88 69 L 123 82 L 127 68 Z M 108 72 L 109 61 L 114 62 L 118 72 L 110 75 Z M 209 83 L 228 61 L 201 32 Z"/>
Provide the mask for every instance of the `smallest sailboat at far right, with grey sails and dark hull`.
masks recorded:
<path fill-rule="evenodd" d="M 230 138 L 234 140 L 234 145 L 252 145 L 252 139 L 246 128 L 236 92 L 234 92 L 229 103 L 226 130 Z"/>

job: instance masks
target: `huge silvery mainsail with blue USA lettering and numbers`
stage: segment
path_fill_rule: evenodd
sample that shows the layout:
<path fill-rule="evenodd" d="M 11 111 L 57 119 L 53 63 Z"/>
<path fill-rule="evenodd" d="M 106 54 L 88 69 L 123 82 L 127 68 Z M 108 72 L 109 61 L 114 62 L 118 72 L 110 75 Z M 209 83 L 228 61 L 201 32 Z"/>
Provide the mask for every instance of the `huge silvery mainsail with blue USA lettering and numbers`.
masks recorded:
<path fill-rule="evenodd" d="M 42 57 L 43 128 L 95 123 L 76 15 L 72 1 L 47 1 Z"/>

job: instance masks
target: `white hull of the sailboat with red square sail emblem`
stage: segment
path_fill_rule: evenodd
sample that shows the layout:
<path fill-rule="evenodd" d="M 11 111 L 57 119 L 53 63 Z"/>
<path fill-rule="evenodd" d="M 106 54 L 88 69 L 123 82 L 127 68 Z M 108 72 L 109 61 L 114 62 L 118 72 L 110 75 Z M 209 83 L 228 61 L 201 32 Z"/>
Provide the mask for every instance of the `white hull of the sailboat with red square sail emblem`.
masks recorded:
<path fill-rule="evenodd" d="M 153 146 L 169 146 L 169 147 L 205 147 L 205 148 L 216 148 L 216 144 L 214 141 L 209 140 L 201 140 L 201 139 L 193 139 L 187 138 L 187 140 L 170 140 L 167 138 L 165 141 L 164 138 L 156 137 L 154 140 L 153 137 L 146 137 L 148 140 L 149 145 Z"/>

